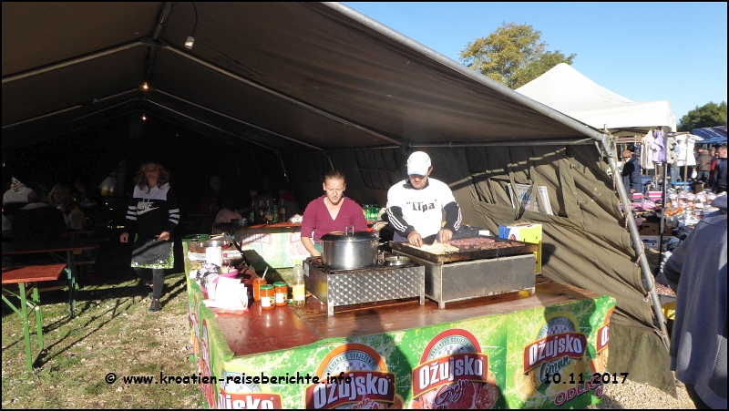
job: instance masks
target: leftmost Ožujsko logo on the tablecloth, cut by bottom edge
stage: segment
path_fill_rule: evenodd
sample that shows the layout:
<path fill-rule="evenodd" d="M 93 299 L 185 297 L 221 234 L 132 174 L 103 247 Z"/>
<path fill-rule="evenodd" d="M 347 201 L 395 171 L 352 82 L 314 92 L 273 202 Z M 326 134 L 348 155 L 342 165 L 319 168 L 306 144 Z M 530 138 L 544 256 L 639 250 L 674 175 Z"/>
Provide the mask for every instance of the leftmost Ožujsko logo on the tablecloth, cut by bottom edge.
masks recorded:
<path fill-rule="evenodd" d="M 282 409 L 280 394 L 267 385 L 253 383 L 251 375 L 261 375 L 243 365 L 223 365 L 218 409 Z M 247 378 L 249 377 L 249 378 Z"/>

